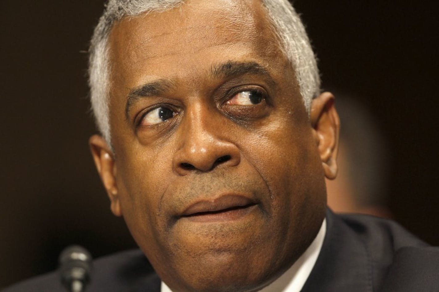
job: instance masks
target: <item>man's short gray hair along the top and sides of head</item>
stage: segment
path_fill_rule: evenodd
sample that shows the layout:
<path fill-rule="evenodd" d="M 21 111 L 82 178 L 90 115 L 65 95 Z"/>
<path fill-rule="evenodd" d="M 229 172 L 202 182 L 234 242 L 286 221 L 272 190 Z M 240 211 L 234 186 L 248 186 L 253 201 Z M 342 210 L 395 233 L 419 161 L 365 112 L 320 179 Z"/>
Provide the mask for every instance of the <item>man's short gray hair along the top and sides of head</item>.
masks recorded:
<path fill-rule="evenodd" d="M 320 94 L 320 76 L 305 28 L 288 0 L 261 1 L 279 39 L 280 47 L 295 70 L 300 93 L 309 113 L 312 99 Z M 183 3 L 184 0 L 108 1 L 91 39 L 89 85 L 91 107 L 96 124 L 109 145 L 111 145 L 111 129 L 109 121 L 108 39 L 113 24 L 124 17 L 136 16 L 144 12 L 163 12 Z"/>

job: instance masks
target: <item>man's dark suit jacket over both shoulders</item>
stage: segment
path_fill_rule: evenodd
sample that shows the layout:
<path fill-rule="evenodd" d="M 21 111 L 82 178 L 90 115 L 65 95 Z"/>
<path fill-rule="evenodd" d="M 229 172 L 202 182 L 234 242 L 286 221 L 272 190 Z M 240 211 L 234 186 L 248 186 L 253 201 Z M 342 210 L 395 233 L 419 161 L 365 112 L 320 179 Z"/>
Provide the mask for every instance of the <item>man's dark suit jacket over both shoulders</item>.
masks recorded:
<path fill-rule="evenodd" d="M 327 232 L 302 291 L 439 291 L 439 248 L 429 247 L 395 222 L 327 211 Z M 5 292 L 65 292 L 54 272 Z M 159 292 L 160 278 L 139 250 L 94 261 L 90 292 Z"/>

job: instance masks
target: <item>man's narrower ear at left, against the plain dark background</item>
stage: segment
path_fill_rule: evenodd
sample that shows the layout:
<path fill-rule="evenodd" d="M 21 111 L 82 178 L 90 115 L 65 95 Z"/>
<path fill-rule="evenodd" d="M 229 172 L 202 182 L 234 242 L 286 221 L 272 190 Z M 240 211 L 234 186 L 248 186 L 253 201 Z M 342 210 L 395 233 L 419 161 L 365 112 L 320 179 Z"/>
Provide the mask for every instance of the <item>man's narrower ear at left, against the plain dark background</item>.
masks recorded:
<path fill-rule="evenodd" d="M 101 176 L 102 183 L 104 183 L 105 190 L 107 190 L 108 197 L 110 198 L 111 211 L 116 216 L 122 216 L 116 185 L 115 155 L 104 138 L 99 135 L 91 136 L 89 145 L 97 172 L 99 172 L 99 176 Z"/>

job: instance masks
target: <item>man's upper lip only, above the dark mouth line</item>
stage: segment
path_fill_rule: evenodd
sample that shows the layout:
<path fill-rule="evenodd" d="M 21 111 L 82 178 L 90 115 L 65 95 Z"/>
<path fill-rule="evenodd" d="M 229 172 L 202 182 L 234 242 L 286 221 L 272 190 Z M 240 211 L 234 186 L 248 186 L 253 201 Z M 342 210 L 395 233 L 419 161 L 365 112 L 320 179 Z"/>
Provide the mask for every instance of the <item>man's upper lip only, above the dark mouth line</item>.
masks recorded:
<path fill-rule="evenodd" d="M 182 216 L 191 216 L 203 212 L 215 212 L 230 208 L 246 207 L 255 204 L 255 200 L 249 197 L 237 194 L 226 194 L 214 199 L 196 201 L 183 211 Z"/>

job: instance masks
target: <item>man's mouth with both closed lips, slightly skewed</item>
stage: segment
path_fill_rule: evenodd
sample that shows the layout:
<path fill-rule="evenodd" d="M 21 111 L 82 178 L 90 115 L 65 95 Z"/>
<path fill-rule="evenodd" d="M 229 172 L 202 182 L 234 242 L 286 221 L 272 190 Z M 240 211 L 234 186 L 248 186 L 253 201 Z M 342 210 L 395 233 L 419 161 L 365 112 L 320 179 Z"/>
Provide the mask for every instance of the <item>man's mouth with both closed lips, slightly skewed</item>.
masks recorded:
<path fill-rule="evenodd" d="M 180 217 L 192 222 L 233 221 L 248 215 L 256 206 L 257 203 L 247 197 L 226 195 L 212 201 L 198 201 Z"/>

